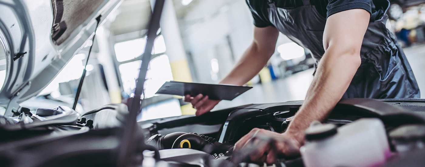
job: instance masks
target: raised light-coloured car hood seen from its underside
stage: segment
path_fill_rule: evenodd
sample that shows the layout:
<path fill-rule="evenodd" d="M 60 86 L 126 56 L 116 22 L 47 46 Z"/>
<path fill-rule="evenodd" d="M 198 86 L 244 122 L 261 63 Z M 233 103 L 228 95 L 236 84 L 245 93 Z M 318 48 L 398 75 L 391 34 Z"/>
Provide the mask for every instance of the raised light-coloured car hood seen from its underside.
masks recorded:
<path fill-rule="evenodd" d="M 96 17 L 102 15 L 102 24 L 121 1 L 0 0 L 7 61 L 0 91 L 0 106 L 7 109 L 0 114 L 10 115 L 41 92 L 94 34 Z"/>

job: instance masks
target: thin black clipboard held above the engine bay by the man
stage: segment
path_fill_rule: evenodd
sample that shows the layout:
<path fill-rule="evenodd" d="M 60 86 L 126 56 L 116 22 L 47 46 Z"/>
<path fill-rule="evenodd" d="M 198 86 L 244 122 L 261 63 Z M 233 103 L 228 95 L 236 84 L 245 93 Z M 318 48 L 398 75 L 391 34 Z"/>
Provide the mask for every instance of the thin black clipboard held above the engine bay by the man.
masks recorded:
<path fill-rule="evenodd" d="M 211 100 L 233 100 L 251 88 L 250 86 L 170 81 L 165 82 L 156 94 L 190 95 L 192 97 L 202 94 L 208 95 Z"/>

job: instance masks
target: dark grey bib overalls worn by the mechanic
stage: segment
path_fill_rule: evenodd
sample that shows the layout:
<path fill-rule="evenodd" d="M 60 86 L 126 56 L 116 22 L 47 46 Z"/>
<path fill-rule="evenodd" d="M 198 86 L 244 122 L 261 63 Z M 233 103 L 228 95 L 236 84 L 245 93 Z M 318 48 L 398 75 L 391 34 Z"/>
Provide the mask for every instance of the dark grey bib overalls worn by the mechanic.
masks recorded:
<path fill-rule="evenodd" d="M 309 0 L 303 0 L 303 4 L 285 9 L 277 8 L 273 0 L 269 0 L 269 20 L 289 39 L 309 50 L 318 63 L 325 53 L 323 30 L 326 18 L 310 5 Z M 385 27 L 387 19 L 384 14 L 369 23 L 360 50 L 362 63 L 343 98 L 420 98 L 407 58 L 397 39 Z"/>

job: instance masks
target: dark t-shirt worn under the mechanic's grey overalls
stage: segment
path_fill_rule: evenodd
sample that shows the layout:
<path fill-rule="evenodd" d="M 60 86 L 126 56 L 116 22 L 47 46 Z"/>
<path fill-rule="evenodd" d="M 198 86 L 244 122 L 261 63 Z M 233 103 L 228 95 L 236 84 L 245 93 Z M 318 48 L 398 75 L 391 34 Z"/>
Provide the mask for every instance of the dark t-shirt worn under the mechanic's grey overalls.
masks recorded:
<path fill-rule="evenodd" d="M 278 8 L 297 8 L 303 6 L 302 0 L 273 0 Z M 332 14 L 350 9 L 364 9 L 371 14 L 370 22 L 380 19 L 388 6 L 387 0 L 310 0 L 317 11 L 328 18 Z M 246 0 L 246 4 L 251 10 L 256 27 L 273 26 L 269 21 L 268 0 Z"/>

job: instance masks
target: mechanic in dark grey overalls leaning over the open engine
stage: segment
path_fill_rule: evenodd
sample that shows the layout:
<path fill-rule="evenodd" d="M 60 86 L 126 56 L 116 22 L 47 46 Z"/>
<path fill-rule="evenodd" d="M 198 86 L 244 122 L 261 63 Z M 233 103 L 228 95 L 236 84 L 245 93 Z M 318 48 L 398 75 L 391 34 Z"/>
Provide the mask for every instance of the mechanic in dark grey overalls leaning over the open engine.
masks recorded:
<path fill-rule="evenodd" d="M 419 98 L 411 67 L 394 35 L 385 27 L 387 0 L 246 0 L 254 18 L 254 39 L 221 83 L 243 85 L 275 52 L 279 31 L 304 47 L 317 68 L 304 100 L 283 134 L 255 128 L 235 150 L 255 143 L 252 161 L 272 164 L 276 154 L 299 151 L 304 131 L 324 120 L 341 98 Z M 320 60 L 320 61 L 319 61 Z M 218 100 L 185 96 L 196 115 L 210 111 Z M 258 137 L 275 140 L 259 145 Z M 258 141 L 257 141 L 258 140 Z"/>

